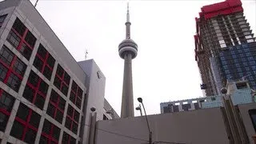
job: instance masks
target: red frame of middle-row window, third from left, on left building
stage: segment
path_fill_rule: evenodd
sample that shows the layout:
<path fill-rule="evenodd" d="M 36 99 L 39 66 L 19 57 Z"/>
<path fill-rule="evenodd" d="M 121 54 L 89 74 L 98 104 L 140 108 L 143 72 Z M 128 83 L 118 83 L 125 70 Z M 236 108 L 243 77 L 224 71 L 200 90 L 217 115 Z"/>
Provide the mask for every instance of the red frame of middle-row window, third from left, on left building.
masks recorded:
<path fill-rule="evenodd" d="M 54 95 L 55 95 L 56 97 L 58 97 L 58 98 L 57 98 L 57 101 L 55 101 L 55 102 L 54 102 L 54 98 L 53 98 Z M 61 108 L 61 107 L 59 106 L 59 105 L 61 104 L 61 100 L 62 100 L 63 102 L 65 102 L 63 108 Z M 50 106 L 50 105 L 53 106 L 53 108 L 54 108 L 54 111 L 51 111 L 51 113 L 53 113 L 53 115 L 50 114 L 50 110 L 49 110 L 49 106 Z M 66 106 L 66 101 L 65 101 L 65 99 L 62 98 L 54 89 L 52 89 L 52 90 L 51 90 L 51 94 L 50 94 L 50 100 L 49 100 L 49 104 L 48 104 L 48 108 L 47 108 L 46 114 L 50 115 L 50 117 L 54 118 L 57 122 L 59 122 L 58 119 L 56 118 L 56 117 L 57 117 L 57 112 L 59 111 L 59 112 L 61 112 L 61 114 L 62 114 L 62 121 L 63 121 L 63 115 L 64 115 L 65 106 Z M 62 124 L 62 122 L 59 122 L 59 123 Z"/>

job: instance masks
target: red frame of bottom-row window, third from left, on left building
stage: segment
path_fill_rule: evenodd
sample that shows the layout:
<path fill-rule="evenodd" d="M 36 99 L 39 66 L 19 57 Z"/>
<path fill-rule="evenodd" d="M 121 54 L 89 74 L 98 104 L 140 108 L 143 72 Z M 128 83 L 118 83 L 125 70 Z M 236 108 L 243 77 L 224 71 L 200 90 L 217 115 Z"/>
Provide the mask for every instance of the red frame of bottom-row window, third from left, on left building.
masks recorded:
<path fill-rule="evenodd" d="M 45 122 L 48 121 L 47 119 L 45 119 Z M 45 126 L 45 122 L 43 124 L 43 126 Z M 52 144 L 53 142 L 58 144 L 58 139 L 59 139 L 59 136 L 60 136 L 60 132 L 61 132 L 61 129 L 58 127 L 58 126 L 55 126 L 52 122 L 48 121 L 50 123 L 50 134 L 47 134 L 46 132 L 43 131 L 43 128 L 42 127 L 42 133 L 41 133 L 41 137 L 45 137 L 47 138 L 47 144 Z M 57 127 L 58 130 L 59 130 L 59 134 L 58 134 L 58 139 L 54 138 L 54 128 Z M 41 139 L 41 138 L 40 138 Z"/>

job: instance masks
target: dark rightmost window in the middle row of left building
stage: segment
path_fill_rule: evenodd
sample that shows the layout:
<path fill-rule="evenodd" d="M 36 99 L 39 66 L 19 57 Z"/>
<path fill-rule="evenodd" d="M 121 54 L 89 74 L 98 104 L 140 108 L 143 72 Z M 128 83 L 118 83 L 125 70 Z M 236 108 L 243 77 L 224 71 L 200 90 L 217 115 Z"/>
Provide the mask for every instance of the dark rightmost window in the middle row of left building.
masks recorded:
<path fill-rule="evenodd" d="M 67 109 L 65 126 L 67 129 L 71 130 L 74 134 L 78 133 L 79 116 L 80 114 L 78 113 L 78 111 L 74 110 L 74 108 L 69 105 Z"/>

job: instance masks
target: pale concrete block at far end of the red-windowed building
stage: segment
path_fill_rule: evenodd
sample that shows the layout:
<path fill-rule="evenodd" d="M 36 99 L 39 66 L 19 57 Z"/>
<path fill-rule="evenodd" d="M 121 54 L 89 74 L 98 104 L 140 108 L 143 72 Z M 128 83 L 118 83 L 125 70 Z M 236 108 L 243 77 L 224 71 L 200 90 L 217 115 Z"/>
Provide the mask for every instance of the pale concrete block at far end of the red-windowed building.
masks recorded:
<path fill-rule="evenodd" d="M 82 70 L 84 70 L 88 76 L 88 78 L 86 78 L 86 107 L 84 107 L 84 118 L 87 126 L 85 126 L 82 136 L 84 143 L 87 143 L 85 140 L 88 140 L 90 135 L 90 108 L 96 108 L 95 112 L 97 112 L 97 121 L 103 119 L 106 78 L 93 59 L 78 62 L 78 64 L 82 67 Z M 99 77 L 98 74 L 100 74 Z"/>

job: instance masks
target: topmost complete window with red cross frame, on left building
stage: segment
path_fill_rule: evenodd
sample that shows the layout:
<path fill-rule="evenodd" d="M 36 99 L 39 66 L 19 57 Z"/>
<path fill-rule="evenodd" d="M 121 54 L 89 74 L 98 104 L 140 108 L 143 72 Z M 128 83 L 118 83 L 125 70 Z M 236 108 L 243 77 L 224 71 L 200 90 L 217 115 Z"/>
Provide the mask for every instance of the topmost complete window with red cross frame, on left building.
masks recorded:
<path fill-rule="evenodd" d="M 18 18 L 16 18 L 6 40 L 27 60 L 30 60 L 36 38 Z"/>

